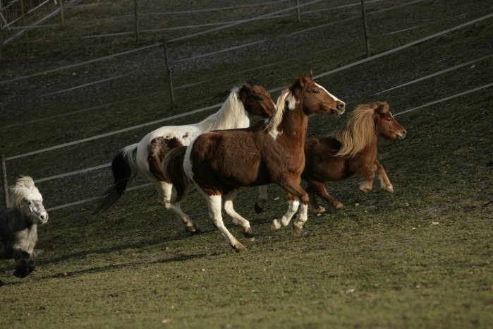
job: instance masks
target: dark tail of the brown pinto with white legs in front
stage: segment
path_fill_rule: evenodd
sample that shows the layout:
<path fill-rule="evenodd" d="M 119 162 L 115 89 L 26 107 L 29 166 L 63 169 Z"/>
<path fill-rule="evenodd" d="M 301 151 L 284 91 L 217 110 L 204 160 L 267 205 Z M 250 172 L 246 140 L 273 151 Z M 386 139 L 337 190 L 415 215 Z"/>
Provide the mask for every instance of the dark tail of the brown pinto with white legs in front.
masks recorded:
<path fill-rule="evenodd" d="M 168 201 L 169 203 L 177 203 L 181 201 L 185 191 L 187 190 L 187 177 L 183 170 L 183 159 L 185 159 L 186 146 L 179 146 L 169 151 L 164 157 L 164 177 L 166 181 L 170 181 L 176 190 L 176 196 Z"/>

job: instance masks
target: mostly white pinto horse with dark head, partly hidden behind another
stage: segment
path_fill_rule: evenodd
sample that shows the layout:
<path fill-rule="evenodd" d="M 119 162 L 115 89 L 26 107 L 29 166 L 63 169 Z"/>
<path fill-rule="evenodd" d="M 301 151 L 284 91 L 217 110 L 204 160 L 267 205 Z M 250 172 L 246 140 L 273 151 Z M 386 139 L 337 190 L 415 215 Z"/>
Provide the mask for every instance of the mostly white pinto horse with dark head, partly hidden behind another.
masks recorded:
<path fill-rule="evenodd" d="M 270 93 L 255 80 L 245 82 L 241 88 L 233 88 L 218 112 L 197 124 L 163 126 L 147 133 L 139 143 L 128 145 L 118 152 L 111 162 L 114 184 L 103 192 L 95 213 L 106 210 L 118 201 L 127 184 L 140 171 L 156 186 L 158 202 L 173 211 L 189 232 L 196 231 L 190 217 L 183 213 L 179 203 L 171 204 L 171 183 L 164 178 L 162 161 L 173 148 L 188 145 L 201 133 L 216 129 L 245 128 L 250 125 L 248 114 L 270 117 L 276 104 Z"/>

